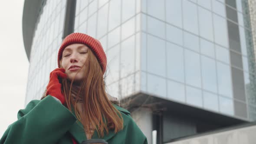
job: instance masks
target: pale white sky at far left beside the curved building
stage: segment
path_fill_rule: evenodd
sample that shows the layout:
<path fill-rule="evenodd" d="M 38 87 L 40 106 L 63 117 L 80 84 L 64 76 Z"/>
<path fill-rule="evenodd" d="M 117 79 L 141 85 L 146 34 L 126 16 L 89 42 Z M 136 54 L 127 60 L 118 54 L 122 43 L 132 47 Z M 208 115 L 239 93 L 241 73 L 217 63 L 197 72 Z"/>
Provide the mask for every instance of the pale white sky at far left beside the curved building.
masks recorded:
<path fill-rule="evenodd" d="M 22 36 L 24 0 L 0 0 L 0 137 L 24 108 L 29 62 Z"/>

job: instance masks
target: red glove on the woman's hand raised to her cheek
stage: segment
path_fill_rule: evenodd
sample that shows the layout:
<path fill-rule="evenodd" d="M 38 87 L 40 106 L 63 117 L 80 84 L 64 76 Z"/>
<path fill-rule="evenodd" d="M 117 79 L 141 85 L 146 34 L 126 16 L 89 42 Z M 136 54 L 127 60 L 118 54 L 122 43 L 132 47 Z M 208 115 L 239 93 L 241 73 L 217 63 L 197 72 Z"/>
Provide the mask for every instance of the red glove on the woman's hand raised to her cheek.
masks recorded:
<path fill-rule="evenodd" d="M 65 74 L 65 69 L 57 68 L 54 69 L 53 72 L 50 73 L 49 83 L 46 87 L 46 95 L 51 95 L 55 98 L 58 98 L 59 101 L 64 104 L 65 98 L 64 95 L 61 93 L 61 84 L 59 83 L 58 78 L 66 78 L 67 75 Z"/>

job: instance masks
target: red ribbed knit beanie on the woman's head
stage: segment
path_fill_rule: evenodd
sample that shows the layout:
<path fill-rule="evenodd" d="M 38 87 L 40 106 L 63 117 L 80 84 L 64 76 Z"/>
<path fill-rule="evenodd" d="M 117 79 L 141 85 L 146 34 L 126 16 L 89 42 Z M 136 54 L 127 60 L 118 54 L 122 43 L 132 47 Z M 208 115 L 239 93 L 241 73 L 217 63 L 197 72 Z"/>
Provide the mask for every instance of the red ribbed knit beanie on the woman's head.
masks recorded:
<path fill-rule="evenodd" d="M 105 73 L 106 71 L 106 66 L 107 66 L 107 57 L 106 54 L 102 48 L 101 43 L 97 40 L 94 39 L 91 36 L 88 36 L 83 33 L 71 33 L 66 38 L 62 41 L 62 44 L 59 48 L 58 52 L 58 66 L 60 68 L 60 59 L 62 58 L 62 52 L 63 50 L 74 43 L 82 43 L 86 46 L 88 46 L 94 55 L 97 57 L 99 64 L 102 67 L 102 72 Z"/>

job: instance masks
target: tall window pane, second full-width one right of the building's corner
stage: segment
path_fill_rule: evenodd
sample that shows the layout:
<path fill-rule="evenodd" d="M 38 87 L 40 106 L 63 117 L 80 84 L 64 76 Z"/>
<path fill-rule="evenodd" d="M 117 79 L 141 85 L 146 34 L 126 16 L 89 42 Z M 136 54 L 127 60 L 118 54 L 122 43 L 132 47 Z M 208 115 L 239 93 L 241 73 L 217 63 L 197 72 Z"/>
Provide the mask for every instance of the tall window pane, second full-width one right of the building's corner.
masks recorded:
<path fill-rule="evenodd" d="M 184 82 L 184 55 L 183 48 L 167 43 L 167 77 Z"/>

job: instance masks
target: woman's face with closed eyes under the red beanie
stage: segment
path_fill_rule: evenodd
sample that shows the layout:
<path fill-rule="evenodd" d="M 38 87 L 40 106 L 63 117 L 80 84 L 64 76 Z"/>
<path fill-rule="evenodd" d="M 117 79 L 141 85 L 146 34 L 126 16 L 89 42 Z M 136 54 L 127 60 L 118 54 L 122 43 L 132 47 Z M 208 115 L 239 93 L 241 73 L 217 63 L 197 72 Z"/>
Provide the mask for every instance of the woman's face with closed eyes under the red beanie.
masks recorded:
<path fill-rule="evenodd" d="M 67 79 L 81 82 L 85 77 L 86 65 L 83 65 L 88 57 L 88 50 L 87 46 L 80 43 L 69 45 L 63 50 L 61 65 L 65 69 Z"/>

